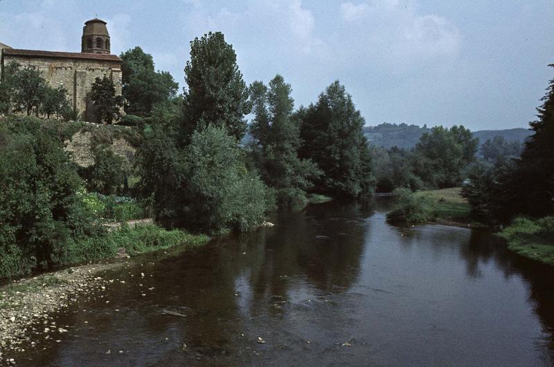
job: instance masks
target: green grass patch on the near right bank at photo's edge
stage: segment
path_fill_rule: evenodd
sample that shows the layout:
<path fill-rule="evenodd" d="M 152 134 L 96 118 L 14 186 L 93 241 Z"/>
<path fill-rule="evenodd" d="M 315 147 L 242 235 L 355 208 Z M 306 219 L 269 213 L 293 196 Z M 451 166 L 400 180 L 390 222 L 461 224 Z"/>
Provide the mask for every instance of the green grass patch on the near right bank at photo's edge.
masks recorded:
<path fill-rule="evenodd" d="M 515 218 L 497 236 L 508 243 L 508 250 L 521 256 L 554 265 L 554 217 L 537 220 Z"/>

